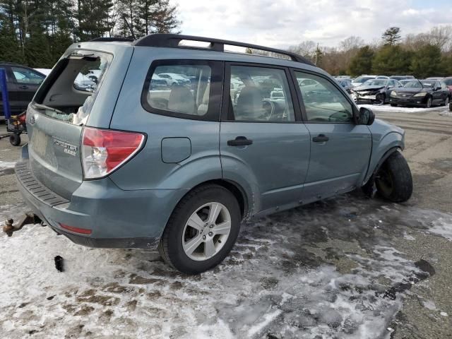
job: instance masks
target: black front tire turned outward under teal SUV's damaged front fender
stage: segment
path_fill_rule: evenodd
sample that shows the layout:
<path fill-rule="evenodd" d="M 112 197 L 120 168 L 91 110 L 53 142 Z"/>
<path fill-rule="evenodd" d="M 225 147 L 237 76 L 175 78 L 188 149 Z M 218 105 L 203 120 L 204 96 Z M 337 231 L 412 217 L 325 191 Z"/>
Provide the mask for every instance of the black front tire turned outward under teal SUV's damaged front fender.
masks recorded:
<path fill-rule="evenodd" d="M 411 197 L 411 171 L 402 153 L 389 155 L 376 174 L 375 184 L 380 196 L 395 203 L 403 203 Z"/>

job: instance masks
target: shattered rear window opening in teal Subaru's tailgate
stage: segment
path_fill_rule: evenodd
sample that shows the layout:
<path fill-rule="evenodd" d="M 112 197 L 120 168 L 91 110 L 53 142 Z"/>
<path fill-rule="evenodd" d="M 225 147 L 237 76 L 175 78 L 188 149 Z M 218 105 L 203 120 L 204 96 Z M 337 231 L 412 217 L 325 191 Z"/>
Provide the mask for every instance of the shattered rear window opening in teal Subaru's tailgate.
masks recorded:
<path fill-rule="evenodd" d="M 77 50 L 61 59 L 35 97 L 34 108 L 54 119 L 85 124 L 113 56 Z"/>

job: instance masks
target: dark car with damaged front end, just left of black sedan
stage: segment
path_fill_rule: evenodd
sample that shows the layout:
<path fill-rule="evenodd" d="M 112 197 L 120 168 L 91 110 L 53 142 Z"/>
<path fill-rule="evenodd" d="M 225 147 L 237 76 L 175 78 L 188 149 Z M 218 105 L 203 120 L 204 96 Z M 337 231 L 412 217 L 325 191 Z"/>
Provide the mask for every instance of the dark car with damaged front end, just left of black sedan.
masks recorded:
<path fill-rule="evenodd" d="M 352 98 L 358 104 L 386 104 L 394 88 L 402 85 L 393 79 L 371 79 L 352 89 Z"/>

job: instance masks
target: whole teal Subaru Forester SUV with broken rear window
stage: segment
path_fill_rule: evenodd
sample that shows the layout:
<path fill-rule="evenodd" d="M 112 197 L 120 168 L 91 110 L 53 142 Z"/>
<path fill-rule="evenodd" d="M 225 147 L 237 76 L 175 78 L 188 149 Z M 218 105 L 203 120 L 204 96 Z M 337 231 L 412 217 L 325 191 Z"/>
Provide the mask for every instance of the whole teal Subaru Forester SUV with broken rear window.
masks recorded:
<path fill-rule="evenodd" d="M 402 129 L 307 59 L 242 42 L 73 44 L 27 126 L 16 175 L 34 220 L 85 246 L 158 246 L 184 273 L 218 265 L 251 218 L 359 187 L 412 193 Z"/>

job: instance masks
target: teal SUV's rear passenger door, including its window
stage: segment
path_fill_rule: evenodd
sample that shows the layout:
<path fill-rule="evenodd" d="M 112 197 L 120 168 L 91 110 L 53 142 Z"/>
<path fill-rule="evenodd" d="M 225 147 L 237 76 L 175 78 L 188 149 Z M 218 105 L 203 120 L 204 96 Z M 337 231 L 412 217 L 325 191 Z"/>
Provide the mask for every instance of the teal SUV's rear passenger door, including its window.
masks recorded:
<path fill-rule="evenodd" d="M 244 179 L 257 188 L 258 211 L 297 202 L 302 196 L 309 131 L 296 119 L 299 109 L 288 79 L 285 68 L 226 65 L 220 128 L 223 178 Z"/>

